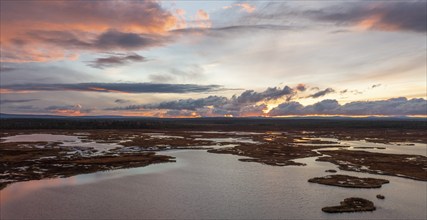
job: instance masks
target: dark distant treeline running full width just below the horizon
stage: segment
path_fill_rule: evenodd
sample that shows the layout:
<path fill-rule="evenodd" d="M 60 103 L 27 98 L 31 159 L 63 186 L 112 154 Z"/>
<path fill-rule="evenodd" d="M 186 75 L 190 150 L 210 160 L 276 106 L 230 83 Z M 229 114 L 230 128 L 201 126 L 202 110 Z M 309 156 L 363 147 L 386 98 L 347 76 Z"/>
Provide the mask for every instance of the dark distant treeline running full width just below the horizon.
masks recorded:
<path fill-rule="evenodd" d="M 277 119 L 277 118 L 3 118 L 0 129 L 187 129 L 187 130 L 311 130 L 427 129 L 427 120 L 403 119 Z"/>

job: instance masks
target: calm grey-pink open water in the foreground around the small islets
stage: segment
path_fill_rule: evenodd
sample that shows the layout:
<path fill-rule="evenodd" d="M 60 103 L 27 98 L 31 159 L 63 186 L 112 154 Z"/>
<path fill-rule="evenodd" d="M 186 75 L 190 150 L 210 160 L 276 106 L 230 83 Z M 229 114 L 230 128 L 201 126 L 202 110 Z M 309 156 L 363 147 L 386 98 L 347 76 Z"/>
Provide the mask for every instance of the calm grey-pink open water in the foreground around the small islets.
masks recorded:
<path fill-rule="evenodd" d="M 1 191 L 1 219 L 425 219 L 427 183 L 390 180 L 380 189 L 348 189 L 308 183 L 336 168 L 315 158 L 303 167 L 238 161 L 204 150 L 161 152 L 176 163 L 16 183 Z M 386 196 L 385 200 L 375 198 Z M 326 214 L 324 206 L 347 197 L 375 203 L 374 212 Z"/>

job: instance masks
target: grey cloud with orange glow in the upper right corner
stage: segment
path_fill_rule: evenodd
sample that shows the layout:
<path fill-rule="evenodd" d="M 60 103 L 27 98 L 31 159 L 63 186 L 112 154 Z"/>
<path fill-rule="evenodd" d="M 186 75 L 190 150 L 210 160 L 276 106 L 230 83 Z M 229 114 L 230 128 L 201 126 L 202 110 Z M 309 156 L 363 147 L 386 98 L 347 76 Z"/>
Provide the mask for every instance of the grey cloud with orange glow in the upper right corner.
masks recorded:
<path fill-rule="evenodd" d="M 338 26 L 351 26 L 362 30 L 409 31 L 425 33 L 427 29 L 427 4 L 419 1 L 352 1 L 331 2 L 313 9 L 293 7 L 289 2 L 268 2 L 260 10 L 247 15 L 245 22 L 280 23 L 299 21 L 327 22 Z M 333 33 L 348 30 L 335 30 Z"/>

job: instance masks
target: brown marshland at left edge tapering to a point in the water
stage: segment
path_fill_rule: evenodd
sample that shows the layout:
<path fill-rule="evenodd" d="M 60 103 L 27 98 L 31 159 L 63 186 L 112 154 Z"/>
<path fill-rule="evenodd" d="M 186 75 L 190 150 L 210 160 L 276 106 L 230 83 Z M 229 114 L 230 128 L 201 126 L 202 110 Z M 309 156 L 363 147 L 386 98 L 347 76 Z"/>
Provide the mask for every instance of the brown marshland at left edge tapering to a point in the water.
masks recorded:
<path fill-rule="evenodd" d="M 0 143 L 0 189 L 13 182 L 69 177 L 77 174 L 174 162 L 155 152 L 111 152 L 97 155 L 92 148 L 63 147 L 60 142 Z"/>

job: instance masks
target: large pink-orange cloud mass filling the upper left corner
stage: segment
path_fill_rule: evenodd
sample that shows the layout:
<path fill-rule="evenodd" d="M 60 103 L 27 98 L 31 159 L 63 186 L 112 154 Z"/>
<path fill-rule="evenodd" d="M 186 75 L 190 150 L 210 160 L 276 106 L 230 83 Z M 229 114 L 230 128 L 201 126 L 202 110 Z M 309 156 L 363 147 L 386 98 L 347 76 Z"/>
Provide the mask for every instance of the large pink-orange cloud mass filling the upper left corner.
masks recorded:
<path fill-rule="evenodd" d="M 177 18 L 158 1 L 2 1 L 2 61 L 75 59 L 78 51 L 159 45 Z"/>

